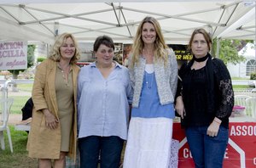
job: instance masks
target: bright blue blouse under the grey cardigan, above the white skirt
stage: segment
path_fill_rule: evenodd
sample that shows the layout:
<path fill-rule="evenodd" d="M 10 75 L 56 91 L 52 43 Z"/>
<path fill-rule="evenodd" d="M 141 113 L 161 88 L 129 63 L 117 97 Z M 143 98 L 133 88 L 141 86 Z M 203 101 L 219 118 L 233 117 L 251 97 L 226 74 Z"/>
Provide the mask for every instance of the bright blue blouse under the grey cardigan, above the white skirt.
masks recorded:
<path fill-rule="evenodd" d="M 132 108 L 131 116 L 143 118 L 166 117 L 172 119 L 175 117 L 173 104 L 160 104 L 154 73 L 148 74 L 147 71 L 144 71 L 140 104 L 138 108 Z"/>

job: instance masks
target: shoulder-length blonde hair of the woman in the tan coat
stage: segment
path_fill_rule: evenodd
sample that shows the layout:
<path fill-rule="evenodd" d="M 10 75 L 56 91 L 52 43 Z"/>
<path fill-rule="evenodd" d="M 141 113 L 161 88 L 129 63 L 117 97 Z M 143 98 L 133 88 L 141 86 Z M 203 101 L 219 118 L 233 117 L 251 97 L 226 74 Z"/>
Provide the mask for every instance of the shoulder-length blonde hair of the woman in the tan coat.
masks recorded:
<path fill-rule="evenodd" d="M 60 36 L 57 36 L 55 40 L 55 44 L 51 48 L 51 51 L 49 53 L 49 59 L 55 60 L 56 62 L 59 62 L 61 59 L 61 53 L 60 48 L 63 42 L 66 42 L 67 38 L 70 37 L 73 40 L 73 44 L 75 47 L 75 53 L 73 55 L 73 58 L 70 60 L 70 64 L 76 63 L 80 59 L 80 51 L 79 51 L 79 44 L 76 41 L 75 37 L 70 33 L 63 33 Z"/>

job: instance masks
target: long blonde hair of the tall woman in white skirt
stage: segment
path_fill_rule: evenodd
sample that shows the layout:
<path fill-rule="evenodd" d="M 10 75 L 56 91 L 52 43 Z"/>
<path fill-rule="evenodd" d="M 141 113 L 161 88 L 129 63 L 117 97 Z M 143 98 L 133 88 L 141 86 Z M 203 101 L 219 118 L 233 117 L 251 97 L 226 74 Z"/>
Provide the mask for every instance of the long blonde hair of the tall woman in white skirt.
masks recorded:
<path fill-rule="evenodd" d="M 136 33 L 136 36 L 134 38 L 134 42 L 132 45 L 131 67 L 133 67 L 134 64 L 136 64 L 138 62 L 138 59 L 139 59 L 141 53 L 143 53 L 144 43 L 143 43 L 142 32 L 143 32 L 144 23 L 150 23 L 150 24 L 154 25 L 154 29 L 156 32 L 156 37 L 155 37 L 155 41 L 154 41 L 155 59 L 162 60 L 162 61 L 164 61 L 164 63 L 166 63 L 166 61 L 167 61 L 168 53 L 167 53 L 166 49 L 168 48 L 168 46 L 166 45 L 164 36 L 161 32 L 160 24 L 153 17 L 147 16 L 142 20 L 142 22 L 140 23 L 140 25 L 137 28 L 137 33 Z"/>

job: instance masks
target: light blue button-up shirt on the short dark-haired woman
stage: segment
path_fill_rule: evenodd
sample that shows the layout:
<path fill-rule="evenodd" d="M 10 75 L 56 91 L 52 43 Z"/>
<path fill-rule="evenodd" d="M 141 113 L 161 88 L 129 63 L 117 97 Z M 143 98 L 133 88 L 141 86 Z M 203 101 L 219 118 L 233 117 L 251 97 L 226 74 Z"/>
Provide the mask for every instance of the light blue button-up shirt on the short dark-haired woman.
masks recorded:
<path fill-rule="evenodd" d="M 127 139 L 131 82 L 128 69 L 115 64 L 107 79 L 96 68 L 96 63 L 84 66 L 79 72 L 79 138 L 118 136 Z"/>

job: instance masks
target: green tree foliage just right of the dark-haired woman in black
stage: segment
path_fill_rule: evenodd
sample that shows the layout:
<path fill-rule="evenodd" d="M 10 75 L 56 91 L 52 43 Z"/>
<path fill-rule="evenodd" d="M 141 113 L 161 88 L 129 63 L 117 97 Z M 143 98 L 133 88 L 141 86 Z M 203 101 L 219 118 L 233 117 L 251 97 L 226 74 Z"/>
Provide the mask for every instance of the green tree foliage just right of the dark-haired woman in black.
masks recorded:
<path fill-rule="evenodd" d="M 224 61 L 224 64 L 239 64 L 246 60 L 242 55 L 238 55 L 238 52 L 244 48 L 247 43 L 253 43 L 253 40 L 230 40 L 220 39 L 219 41 L 219 55 L 218 58 Z M 213 40 L 212 44 L 213 55 L 217 53 L 217 39 Z"/>

